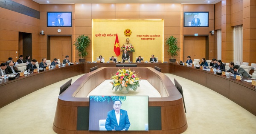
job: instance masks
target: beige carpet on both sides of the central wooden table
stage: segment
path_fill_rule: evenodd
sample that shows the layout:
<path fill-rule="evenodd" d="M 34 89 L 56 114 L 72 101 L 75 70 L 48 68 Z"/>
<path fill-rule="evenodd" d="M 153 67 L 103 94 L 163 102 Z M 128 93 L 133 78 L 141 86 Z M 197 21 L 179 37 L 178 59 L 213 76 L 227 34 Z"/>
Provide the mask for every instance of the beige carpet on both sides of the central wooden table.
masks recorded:
<path fill-rule="evenodd" d="M 209 88 L 166 75 L 183 87 L 188 122 L 183 134 L 256 134 L 256 116 L 244 108 Z M 72 77 L 73 82 L 80 76 Z M 52 124 L 59 88 L 67 80 L 0 108 L 0 134 L 55 134 Z"/>

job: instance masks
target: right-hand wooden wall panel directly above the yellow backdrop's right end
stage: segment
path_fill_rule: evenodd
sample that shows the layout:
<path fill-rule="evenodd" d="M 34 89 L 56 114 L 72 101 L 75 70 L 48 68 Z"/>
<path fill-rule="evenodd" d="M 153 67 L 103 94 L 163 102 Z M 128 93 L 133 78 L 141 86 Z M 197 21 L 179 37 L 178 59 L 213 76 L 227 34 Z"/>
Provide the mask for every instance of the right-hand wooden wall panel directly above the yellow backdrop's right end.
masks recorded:
<path fill-rule="evenodd" d="M 164 11 L 140 11 L 140 19 L 163 19 Z"/>

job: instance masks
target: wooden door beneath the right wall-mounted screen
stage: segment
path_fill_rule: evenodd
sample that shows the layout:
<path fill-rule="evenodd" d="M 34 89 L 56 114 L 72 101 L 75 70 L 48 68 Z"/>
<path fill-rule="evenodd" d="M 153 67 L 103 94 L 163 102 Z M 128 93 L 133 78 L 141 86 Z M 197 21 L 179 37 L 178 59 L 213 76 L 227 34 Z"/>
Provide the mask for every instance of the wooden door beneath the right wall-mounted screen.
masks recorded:
<path fill-rule="evenodd" d="M 205 36 L 185 36 L 184 37 L 184 61 L 187 56 L 192 60 L 202 59 L 206 56 L 206 38 Z"/>

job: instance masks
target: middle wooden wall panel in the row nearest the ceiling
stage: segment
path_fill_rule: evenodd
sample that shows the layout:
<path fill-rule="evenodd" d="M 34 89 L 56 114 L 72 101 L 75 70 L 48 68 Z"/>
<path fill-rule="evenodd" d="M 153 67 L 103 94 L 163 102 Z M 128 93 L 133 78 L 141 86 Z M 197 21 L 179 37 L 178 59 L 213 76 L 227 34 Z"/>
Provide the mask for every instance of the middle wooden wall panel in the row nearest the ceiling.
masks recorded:
<path fill-rule="evenodd" d="M 140 11 L 140 4 L 123 4 L 123 3 L 116 3 L 116 12 L 117 11 Z"/>

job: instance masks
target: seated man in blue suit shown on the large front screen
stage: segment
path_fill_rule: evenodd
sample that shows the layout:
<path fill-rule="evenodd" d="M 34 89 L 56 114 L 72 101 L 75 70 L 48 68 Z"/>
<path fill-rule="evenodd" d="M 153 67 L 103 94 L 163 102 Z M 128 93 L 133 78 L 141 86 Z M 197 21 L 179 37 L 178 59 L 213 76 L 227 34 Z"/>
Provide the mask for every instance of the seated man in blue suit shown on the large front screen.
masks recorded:
<path fill-rule="evenodd" d="M 127 131 L 130 127 L 130 121 L 127 111 L 121 109 L 121 100 L 114 100 L 113 110 L 108 111 L 105 128 L 108 131 Z"/>

